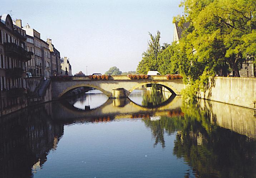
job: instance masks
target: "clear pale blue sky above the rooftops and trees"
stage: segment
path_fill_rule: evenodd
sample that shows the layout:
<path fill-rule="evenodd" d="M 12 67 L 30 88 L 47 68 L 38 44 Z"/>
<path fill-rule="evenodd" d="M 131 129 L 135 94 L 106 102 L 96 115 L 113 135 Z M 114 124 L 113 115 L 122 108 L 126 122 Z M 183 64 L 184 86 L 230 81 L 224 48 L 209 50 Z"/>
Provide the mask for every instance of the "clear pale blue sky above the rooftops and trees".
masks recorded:
<path fill-rule="evenodd" d="M 147 50 L 148 32 L 173 40 L 173 16 L 181 0 L 1 0 L 0 14 L 21 19 L 50 38 L 72 65 L 72 73 L 105 73 L 117 66 L 134 71 Z"/>

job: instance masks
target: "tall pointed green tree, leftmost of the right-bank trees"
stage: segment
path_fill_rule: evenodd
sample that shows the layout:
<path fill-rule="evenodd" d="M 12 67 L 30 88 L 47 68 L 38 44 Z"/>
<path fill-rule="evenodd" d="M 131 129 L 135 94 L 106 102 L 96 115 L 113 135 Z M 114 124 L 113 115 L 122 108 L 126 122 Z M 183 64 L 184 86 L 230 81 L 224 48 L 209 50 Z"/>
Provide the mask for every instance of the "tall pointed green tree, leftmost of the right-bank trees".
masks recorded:
<path fill-rule="evenodd" d="M 149 36 L 150 41 L 148 42 L 148 49 L 146 52 L 143 52 L 142 60 L 137 67 L 137 72 L 141 74 L 147 74 L 148 71 L 158 70 L 159 67 L 158 55 L 161 51 L 159 44 L 160 32 L 157 31 L 155 36 L 149 32 Z"/>

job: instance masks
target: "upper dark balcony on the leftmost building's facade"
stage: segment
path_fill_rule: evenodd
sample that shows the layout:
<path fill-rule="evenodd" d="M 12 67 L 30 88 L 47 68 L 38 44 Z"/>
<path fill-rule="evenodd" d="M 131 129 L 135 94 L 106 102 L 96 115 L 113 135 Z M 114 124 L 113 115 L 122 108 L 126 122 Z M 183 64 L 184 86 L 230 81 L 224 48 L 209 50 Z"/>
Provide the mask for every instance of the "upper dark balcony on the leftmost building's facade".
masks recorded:
<path fill-rule="evenodd" d="M 18 57 L 21 62 L 29 61 L 33 55 L 33 52 L 26 51 L 15 43 L 4 43 L 4 49 L 9 57 Z"/>

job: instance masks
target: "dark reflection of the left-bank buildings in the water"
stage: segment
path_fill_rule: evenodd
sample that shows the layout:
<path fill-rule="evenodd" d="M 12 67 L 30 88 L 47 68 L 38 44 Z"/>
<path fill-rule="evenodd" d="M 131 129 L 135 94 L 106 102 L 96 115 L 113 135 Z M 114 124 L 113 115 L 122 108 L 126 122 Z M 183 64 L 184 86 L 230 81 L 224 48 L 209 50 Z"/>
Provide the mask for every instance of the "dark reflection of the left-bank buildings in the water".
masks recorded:
<path fill-rule="evenodd" d="M 44 107 L 8 115 L 0 122 L 0 177 L 32 177 L 63 134 L 63 124 L 54 123 Z"/>

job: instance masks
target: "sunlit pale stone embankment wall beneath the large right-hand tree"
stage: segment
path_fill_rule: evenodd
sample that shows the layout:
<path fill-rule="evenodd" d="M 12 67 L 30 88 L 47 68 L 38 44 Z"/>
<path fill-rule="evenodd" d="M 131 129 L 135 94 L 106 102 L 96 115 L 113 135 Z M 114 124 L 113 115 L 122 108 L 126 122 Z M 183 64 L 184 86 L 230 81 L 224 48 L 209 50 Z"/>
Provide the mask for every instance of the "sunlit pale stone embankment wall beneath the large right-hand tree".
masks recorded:
<path fill-rule="evenodd" d="M 205 91 L 199 92 L 198 97 L 256 110 L 256 78 L 209 78 Z"/>

